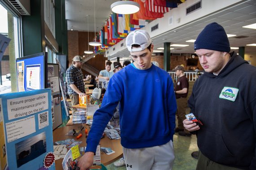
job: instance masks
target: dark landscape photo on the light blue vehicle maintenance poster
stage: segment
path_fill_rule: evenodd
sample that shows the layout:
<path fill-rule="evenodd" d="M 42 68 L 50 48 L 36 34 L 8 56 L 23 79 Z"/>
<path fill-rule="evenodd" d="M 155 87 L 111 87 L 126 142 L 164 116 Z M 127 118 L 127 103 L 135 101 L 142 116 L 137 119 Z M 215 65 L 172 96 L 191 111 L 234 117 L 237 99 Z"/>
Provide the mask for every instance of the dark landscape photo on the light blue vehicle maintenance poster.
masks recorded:
<path fill-rule="evenodd" d="M 46 152 L 45 132 L 15 144 L 17 167 Z"/>

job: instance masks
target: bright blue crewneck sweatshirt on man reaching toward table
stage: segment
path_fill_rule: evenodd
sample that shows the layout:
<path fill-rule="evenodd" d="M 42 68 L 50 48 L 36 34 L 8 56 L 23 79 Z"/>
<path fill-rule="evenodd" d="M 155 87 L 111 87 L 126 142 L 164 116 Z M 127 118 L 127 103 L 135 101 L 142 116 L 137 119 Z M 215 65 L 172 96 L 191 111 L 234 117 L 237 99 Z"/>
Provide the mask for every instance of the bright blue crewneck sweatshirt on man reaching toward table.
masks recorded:
<path fill-rule="evenodd" d="M 154 64 L 146 70 L 128 65 L 109 81 L 102 106 L 93 116 L 86 152 L 95 153 L 119 101 L 123 147 L 146 148 L 173 139 L 177 104 L 171 76 Z"/>

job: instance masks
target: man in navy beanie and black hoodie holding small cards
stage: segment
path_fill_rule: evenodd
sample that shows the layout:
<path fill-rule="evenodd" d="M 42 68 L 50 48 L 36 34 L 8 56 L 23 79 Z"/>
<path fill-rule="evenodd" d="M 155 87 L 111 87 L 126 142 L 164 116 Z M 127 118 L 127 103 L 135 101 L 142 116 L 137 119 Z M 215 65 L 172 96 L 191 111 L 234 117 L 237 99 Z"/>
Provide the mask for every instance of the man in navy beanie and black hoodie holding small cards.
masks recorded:
<path fill-rule="evenodd" d="M 196 170 L 256 170 L 256 68 L 230 52 L 225 30 L 207 25 L 194 42 L 204 69 L 188 101 L 203 125 L 184 127 L 197 135 Z"/>

